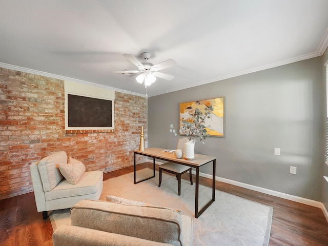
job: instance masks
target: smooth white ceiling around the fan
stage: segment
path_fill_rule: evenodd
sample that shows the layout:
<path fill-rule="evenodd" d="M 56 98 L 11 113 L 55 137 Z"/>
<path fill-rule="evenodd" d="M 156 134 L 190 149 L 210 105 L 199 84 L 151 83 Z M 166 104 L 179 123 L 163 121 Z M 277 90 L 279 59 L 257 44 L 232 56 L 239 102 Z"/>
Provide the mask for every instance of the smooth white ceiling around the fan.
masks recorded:
<path fill-rule="evenodd" d="M 0 0 L 0 67 L 145 95 L 112 71 L 147 51 L 177 62 L 153 96 L 320 56 L 327 13 L 327 0 Z"/>

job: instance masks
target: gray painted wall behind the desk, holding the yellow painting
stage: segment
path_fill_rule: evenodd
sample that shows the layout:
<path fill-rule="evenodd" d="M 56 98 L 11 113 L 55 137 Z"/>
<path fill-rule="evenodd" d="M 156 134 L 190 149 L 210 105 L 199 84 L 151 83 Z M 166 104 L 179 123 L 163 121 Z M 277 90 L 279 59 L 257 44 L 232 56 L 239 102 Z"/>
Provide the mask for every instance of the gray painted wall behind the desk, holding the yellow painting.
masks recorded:
<path fill-rule="evenodd" d="M 174 149 L 179 103 L 225 96 L 225 136 L 196 143 L 216 176 L 321 200 L 322 57 L 149 98 L 149 147 Z M 158 83 L 170 83 L 159 82 Z M 171 82 L 174 83 L 174 80 Z M 281 155 L 274 155 L 281 148 Z M 297 175 L 290 174 L 297 167 Z M 211 174 L 210 167 L 201 172 Z"/>

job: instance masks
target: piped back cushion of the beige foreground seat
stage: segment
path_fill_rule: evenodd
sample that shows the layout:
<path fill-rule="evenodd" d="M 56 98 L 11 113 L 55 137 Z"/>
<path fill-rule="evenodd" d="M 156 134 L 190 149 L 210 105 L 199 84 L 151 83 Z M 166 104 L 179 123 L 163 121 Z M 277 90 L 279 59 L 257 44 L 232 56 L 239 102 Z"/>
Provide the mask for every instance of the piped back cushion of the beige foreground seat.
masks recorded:
<path fill-rule="evenodd" d="M 70 214 L 72 226 L 183 245 L 181 214 L 170 208 L 82 200 Z"/>

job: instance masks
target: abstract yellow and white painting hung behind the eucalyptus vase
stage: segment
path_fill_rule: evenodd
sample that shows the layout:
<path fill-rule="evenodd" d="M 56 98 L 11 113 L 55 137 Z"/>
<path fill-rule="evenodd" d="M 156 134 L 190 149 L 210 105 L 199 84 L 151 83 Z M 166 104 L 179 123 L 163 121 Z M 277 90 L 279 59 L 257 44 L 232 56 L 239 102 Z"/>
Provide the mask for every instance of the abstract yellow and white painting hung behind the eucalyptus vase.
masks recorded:
<path fill-rule="evenodd" d="M 189 112 L 193 112 L 196 108 L 204 112 L 204 108 L 211 104 L 213 106 L 213 111 L 210 114 L 210 118 L 204 122 L 207 133 L 211 137 L 224 137 L 224 118 L 225 118 L 225 97 L 215 97 L 210 99 L 201 99 L 195 101 L 187 101 L 185 103 L 179 104 L 180 112 L 180 123 L 179 126 L 183 126 L 182 120 L 188 119 L 190 116 Z M 183 135 L 180 133 L 180 135 Z"/>

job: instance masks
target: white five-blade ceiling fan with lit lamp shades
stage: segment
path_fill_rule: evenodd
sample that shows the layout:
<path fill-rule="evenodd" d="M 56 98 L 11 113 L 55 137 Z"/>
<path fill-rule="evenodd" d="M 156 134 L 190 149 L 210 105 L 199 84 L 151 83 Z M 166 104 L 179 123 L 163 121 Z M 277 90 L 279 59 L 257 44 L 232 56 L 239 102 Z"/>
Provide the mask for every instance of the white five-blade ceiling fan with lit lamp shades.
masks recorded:
<path fill-rule="evenodd" d="M 150 86 L 153 84 L 156 80 L 156 77 L 163 78 L 166 80 L 172 80 L 174 76 L 158 72 L 159 70 L 170 68 L 172 66 L 176 65 L 176 61 L 173 59 L 169 59 L 166 61 L 163 61 L 162 63 L 153 65 L 148 62 L 148 59 L 150 58 L 150 53 L 144 52 L 141 54 L 142 58 L 145 59 L 144 63 L 141 63 L 137 58 L 135 58 L 133 55 L 130 54 L 123 54 L 124 57 L 126 57 L 128 60 L 131 61 L 135 66 L 138 67 L 138 70 L 123 70 L 123 71 L 113 71 L 113 73 L 140 73 L 136 80 L 138 83 L 142 84 L 142 82 L 145 81 L 145 86 Z"/>

